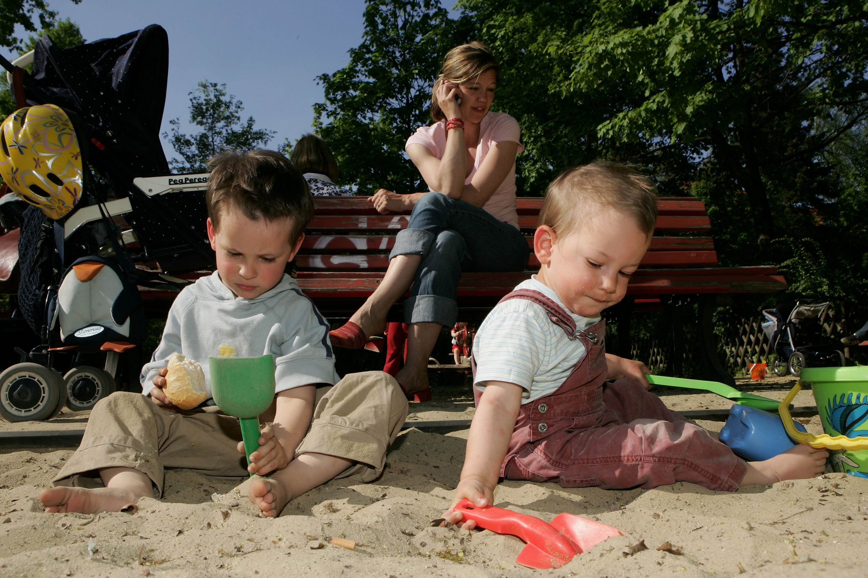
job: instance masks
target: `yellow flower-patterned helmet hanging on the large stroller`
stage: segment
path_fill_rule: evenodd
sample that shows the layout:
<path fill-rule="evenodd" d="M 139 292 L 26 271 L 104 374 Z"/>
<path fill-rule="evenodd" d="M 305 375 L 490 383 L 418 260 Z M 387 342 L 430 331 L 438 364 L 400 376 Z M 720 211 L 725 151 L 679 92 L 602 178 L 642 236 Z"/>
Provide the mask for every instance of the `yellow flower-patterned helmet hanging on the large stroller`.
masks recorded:
<path fill-rule="evenodd" d="M 51 219 L 82 197 L 82 149 L 69 115 L 54 104 L 16 110 L 0 125 L 0 177 Z"/>

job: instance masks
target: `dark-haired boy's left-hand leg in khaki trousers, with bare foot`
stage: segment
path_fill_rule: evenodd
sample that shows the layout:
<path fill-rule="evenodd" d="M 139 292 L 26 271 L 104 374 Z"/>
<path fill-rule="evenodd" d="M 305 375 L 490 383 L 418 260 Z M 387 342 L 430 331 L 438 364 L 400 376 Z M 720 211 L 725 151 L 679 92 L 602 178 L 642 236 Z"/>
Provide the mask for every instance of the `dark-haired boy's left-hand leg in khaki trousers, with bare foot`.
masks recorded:
<path fill-rule="evenodd" d="M 52 512 L 117 511 L 141 496 L 161 496 L 164 467 L 246 476 L 239 441 L 233 417 L 178 414 L 120 391 L 95 405 L 81 445 L 53 481 L 63 487 L 39 497 Z"/>

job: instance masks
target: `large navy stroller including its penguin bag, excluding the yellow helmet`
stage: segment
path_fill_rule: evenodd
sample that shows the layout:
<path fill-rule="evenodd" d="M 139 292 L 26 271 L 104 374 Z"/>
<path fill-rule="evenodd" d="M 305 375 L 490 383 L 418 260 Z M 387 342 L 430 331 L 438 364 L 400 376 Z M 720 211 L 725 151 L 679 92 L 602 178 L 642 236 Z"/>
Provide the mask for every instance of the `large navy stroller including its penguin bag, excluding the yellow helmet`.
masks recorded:
<path fill-rule="evenodd" d="M 137 287 L 178 292 L 190 282 L 178 274 L 214 269 L 203 202 L 208 175 L 169 174 L 160 143 L 166 31 L 151 25 L 69 49 L 43 36 L 33 64 L 28 75 L 0 57 L 13 77 L 16 115 L 39 105 L 61 108 L 85 161 L 82 191 L 69 213 L 56 218 L 29 207 L 20 220 L 17 306 L 0 318 L 0 334 L 4 348 L 28 351 L 16 347 L 20 363 L 0 373 L 0 416 L 9 421 L 48 419 L 64 404 L 86 410 L 115 391 L 120 356 L 147 333 Z M 3 145 L 3 153 L 9 160 L 14 151 Z M 88 311 L 96 305 L 82 303 L 85 311 L 70 314 L 79 301 L 69 293 L 64 305 L 66 279 L 81 293 L 82 283 L 103 273 L 111 278 L 103 285 L 114 291 L 111 311 Z M 26 329 L 22 319 L 32 332 L 18 338 L 16 331 Z M 70 319 L 81 326 L 64 327 Z"/>

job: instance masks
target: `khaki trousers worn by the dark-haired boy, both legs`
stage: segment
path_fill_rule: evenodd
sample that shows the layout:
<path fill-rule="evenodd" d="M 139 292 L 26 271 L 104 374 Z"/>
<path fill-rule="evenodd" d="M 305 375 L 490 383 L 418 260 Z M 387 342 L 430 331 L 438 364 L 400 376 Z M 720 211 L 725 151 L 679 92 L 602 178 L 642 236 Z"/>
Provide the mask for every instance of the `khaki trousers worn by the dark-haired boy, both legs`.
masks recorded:
<path fill-rule="evenodd" d="M 398 436 L 407 401 L 398 382 L 382 371 L 352 373 L 317 389 L 306 437 L 295 455 L 319 453 L 356 462 L 338 477 L 372 482 L 383 472 L 385 452 Z M 118 391 L 90 414 L 82 443 L 53 480 L 56 486 L 101 488 L 102 468 L 132 468 L 163 492 L 163 470 L 186 468 L 207 476 L 248 476 L 238 451 L 238 419 L 216 407 L 175 413 L 141 393 Z"/>

